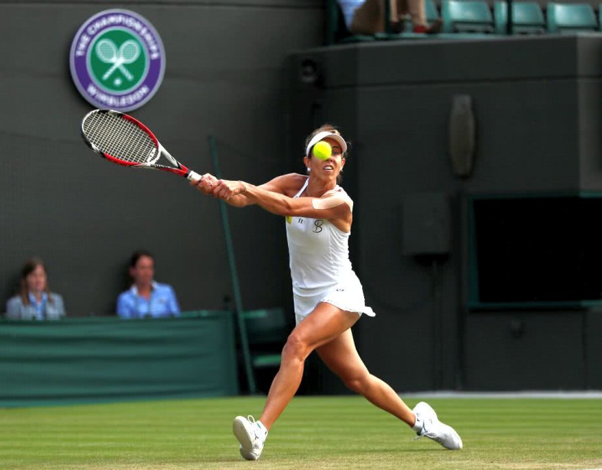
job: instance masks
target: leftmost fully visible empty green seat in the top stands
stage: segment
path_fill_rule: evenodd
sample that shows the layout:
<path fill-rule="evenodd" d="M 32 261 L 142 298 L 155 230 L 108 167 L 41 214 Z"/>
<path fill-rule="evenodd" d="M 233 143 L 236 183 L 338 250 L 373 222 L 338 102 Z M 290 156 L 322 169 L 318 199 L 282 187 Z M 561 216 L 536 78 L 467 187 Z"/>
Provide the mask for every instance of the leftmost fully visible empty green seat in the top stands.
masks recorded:
<path fill-rule="evenodd" d="M 489 6 L 478 0 L 442 0 L 443 32 L 492 33 L 494 22 Z"/>

